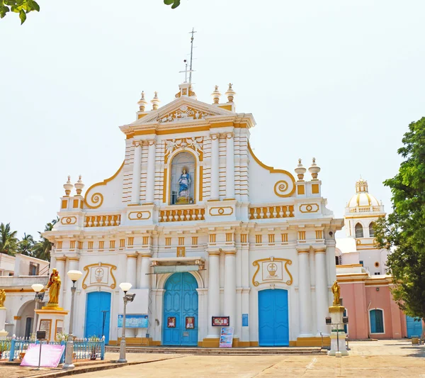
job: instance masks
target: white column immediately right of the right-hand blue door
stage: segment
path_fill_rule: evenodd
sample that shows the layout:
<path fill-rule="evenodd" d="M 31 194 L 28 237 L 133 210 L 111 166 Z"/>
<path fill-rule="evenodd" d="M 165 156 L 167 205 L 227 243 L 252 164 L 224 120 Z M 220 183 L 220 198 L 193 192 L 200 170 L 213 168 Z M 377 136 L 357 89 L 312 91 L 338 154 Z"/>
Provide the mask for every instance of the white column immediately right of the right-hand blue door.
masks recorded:
<path fill-rule="evenodd" d="M 311 283 L 310 283 L 310 248 L 300 248 L 298 250 L 298 301 L 300 303 L 300 337 L 311 335 L 310 319 L 311 308 Z"/>

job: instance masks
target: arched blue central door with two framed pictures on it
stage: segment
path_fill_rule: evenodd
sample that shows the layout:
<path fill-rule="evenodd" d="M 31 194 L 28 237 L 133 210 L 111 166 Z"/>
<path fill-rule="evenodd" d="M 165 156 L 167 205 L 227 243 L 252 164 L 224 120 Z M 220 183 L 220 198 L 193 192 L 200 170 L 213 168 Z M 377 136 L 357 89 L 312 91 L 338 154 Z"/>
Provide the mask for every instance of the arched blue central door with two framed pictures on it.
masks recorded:
<path fill-rule="evenodd" d="M 192 274 L 174 273 L 164 293 L 163 345 L 198 345 L 198 284 Z"/>

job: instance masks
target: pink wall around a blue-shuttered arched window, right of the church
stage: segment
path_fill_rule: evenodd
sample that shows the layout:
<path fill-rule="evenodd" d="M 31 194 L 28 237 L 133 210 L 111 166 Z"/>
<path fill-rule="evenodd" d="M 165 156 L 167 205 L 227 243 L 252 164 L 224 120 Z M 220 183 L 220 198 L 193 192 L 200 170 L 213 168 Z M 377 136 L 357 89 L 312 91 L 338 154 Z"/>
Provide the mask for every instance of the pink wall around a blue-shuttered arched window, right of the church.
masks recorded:
<path fill-rule="evenodd" d="M 348 335 L 351 339 L 404 338 L 407 335 L 406 316 L 398 308 L 388 285 L 371 287 L 360 282 L 339 282 L 341 298 L 348 313 Z M 369 306 L 370 302 L 370 306 Z M 384 333 L 370 334 L 369 310 L 384 311 Z"/>

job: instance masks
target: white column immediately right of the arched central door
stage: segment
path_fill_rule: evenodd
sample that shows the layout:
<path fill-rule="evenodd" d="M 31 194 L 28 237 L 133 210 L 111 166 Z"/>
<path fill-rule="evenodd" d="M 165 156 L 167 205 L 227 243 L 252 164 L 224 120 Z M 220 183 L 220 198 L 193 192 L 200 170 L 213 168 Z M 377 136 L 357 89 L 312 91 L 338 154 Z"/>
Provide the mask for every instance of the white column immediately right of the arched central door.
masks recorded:
<path fill-rule="evenodd" d="M 220 327 L 211 325 L 212 316 L 220 311 L 219 251 L 208 252 L 208 338 L 218 338 Z"/>

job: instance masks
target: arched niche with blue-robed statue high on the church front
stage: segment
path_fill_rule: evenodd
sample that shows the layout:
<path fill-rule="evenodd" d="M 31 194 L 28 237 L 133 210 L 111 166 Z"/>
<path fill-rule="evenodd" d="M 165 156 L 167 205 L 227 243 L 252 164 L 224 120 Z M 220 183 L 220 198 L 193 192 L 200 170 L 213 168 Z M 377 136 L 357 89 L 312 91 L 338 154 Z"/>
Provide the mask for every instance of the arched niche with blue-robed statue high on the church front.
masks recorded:
<path fill-rule="evenodd" d="M 171 205 L 195 202 L 195 157 L 189 152 L 180 152 L 171 162 Z"/>

